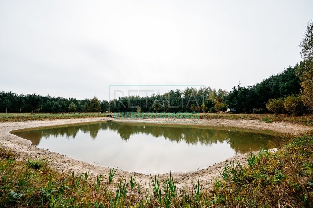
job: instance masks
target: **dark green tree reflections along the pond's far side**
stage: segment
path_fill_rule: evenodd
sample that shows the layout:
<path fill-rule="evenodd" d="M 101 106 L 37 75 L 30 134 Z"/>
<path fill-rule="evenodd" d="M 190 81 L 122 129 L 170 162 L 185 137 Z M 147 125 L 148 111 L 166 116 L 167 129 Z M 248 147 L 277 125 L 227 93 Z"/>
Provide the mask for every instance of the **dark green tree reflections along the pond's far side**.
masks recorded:
<path fill-rule="evenodd" d="M 238 154 L 247 151 L 258 150 L 260 144 L 264 144 L 269 148 L 275 146 L 275 141 L 281 135 L 275 135 L 274 132 L 240 131 L 236 129 L 206 129 L 199 127 L 186 127 L 186 126 L 166 126 L 160 124 L 132 124 L 120 122 L 101 122 L 92 124 L 79 124 L 79 125 L 66 125 L 60 127 L 50 127 L 44 129 L 30 129 L 30 130 L 17 130 L 13 134 L 18 135 L 24 139 L 32 141 L 33 145 L 38 145 L 43 138 L 51 136 L 60 137 L 64 136 L 67 140 L 69 138 L 75 139 L 79 131 L 85 134 L 90 134 L 90 137 L 95 140 L 97 134 L 101 130 L 111 130 L 117 132 L 121 140 L 127 141 L 131 135 L 145 134 L 151 135 L 154 138 L 164 138 L 171 142 L 180 143 L 186 142 L 188 145 L 212 145 L 217 142 L 223 143 L 227 141 L 230 147 Z M 257 133 L 256 133 L 257 132 Z M 259 133 L 258 133 L 259 132 Z M 265 134 L 267 133 L 267 134 Z M 274 135 L 269 135 L 272 133 Z"/>

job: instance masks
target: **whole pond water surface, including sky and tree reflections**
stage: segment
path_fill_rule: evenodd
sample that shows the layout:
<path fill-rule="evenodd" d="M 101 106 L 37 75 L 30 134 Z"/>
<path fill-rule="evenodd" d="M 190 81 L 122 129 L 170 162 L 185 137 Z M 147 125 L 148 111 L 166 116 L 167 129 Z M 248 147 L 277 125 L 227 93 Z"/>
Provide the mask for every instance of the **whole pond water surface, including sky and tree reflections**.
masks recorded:
<path fill-rule="evenodd" d="M 262 144 L 275 148 L 283 136 L 261 130 L 107 121 L 11 133 L 41 149 L 138 173 L 201 170 Z"/>

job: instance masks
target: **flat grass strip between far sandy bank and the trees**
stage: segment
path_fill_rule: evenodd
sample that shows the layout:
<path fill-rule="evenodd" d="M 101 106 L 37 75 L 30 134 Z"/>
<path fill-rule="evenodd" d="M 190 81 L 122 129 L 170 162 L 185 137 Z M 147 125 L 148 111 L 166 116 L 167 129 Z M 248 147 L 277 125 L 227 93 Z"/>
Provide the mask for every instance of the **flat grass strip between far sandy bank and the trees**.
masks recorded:
<path fill-rule="evenodd" d="M 75 114 L 52 114 L 52 113 L 0 113 L 0 122 L 11 122 L 11 121 L 30 121 L 30 120 L 52 120 L 52 119 L 72 119 L 72 118 L 88 118 L 88 117 L 103 117 L 108 113 L 100 114 L 100 113 L 75 113 Z M 139 114 L 139 117 L 142 118 L 143 114 Z M 183 114 L 156 114 L 156 113 L 145 113 L 146 118 L 191 118 L 191 119 L 202 119 L 203 113 L 200 114 L 191 114 L 191 113 L 183 113 Z M 121 114 L 121 118 L 138 118 L 137 113 L 132 114 Z M 286 123 L 292 124 L 303 124 L 303 125 L 312 125 L 313 126 L 313 115 L 306 114 L 302 116 L 288 116 L 287 114 L 227 114 L 227 113 L 205 113 L 204 118 L 206 119 L 229 119 L 229 120 L 259 120 L 264 121 L 264 119 L 268 119 L 269 122 L 273 121 L 283 121 Z"/>

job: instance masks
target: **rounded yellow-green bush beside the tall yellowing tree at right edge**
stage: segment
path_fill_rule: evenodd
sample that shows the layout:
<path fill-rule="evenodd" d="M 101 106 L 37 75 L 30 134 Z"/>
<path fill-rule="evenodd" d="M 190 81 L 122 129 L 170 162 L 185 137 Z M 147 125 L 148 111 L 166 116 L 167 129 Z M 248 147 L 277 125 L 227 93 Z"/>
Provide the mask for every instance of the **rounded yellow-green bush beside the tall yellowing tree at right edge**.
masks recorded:
<path fill-rule="evenodd" d="M 291 94 L 286 96 L 283 105 L 289 114 L 302 115 L 303 113 L 304 104 L 299 95 Z"/>

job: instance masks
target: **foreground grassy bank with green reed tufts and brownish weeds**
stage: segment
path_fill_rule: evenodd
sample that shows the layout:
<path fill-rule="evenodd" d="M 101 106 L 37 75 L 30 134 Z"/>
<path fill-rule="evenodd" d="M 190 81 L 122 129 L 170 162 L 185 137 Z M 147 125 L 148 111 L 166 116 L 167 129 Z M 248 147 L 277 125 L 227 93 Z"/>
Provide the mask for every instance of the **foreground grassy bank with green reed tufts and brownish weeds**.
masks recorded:
<path fill-rule="evenodd" d="M 260 148 L 248 165 L 226 164 L 212 186 L 199 180 L 177 190 L 175 178 L 152 175 L 144 187 L 135 175 L 114 178 L 114 171 L 96 179 L 58 173 L 51 159 L 19 161 L 0 148 L 0 206 L 11 207 L 301 207 L 313 206 L 313 137 L 292 139 L 271 153 Z M 118 181 L 110 190 L 110 180 Z"/>

